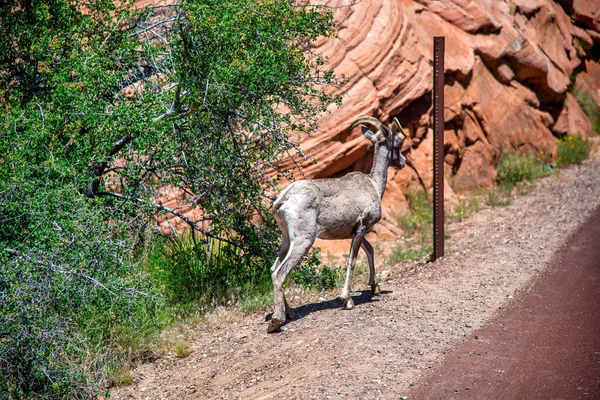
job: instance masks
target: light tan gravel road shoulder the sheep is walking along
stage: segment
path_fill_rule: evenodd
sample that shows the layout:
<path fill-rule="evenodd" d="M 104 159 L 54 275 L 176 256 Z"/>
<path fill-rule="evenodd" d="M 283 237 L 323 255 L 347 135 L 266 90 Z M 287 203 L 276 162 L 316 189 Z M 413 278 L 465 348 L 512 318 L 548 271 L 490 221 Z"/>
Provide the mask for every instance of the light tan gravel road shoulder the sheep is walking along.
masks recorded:
<path fill-rule="evenodd" d="M 288 296 L 296 317 L 270 335 L 265 312 L 224 311 L 214 317 L 218 323 L 186 332 L 188 357 L 138 366 L 134 383 L 112 390 L 111 398 L 408 396 L 451 349 L 545 273 L 600 205 L 597 147 L 591 160 L 536 182 L 512 205 L 450 224 L 444 259 L 386 267 L 382 296 L 355 285 L 351 311 L 341 310 L 338 292 Z"/>

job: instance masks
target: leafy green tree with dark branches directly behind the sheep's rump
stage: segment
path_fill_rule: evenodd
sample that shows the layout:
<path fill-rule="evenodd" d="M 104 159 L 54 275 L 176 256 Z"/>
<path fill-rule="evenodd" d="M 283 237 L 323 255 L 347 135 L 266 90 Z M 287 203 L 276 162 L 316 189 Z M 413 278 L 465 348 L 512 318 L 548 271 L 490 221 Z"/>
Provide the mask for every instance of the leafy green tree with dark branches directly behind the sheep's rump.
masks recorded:
<path fill-rule="evenodd" d="M 88 194 L 143 204 L 157 187 L 177 188 L 186 206 L 203 211 L 200 219 L 187 219 L 183 207 L 147 204 L 206 236 L 264 254 L 273 242 L 266 190 L 288 172 L 278 168 L 280 155 L 300 152 L 289 135 L 309 132 L 316 115 L 340 100 L 316 88 L 337 81 L 319 70 L 321 58 L 307 57 L 310 43 L 331 34 L 332 25 L 329 13 L 287 0 L 182 2 L 149 12 L 135 34 L 156 53 L 146 59 L 164 81 L 136 97 L 145 103 L 155 93 L 162 109 L 137 132 L 115 137 L 107 166 L 125 165 L 112 169 L 118 190 L 98 189 L 110 170 L 99 168 Z M 156 26 L 159 32 L 150 28 Z M 124 154 L 124 144 L 135 152 Z"/>

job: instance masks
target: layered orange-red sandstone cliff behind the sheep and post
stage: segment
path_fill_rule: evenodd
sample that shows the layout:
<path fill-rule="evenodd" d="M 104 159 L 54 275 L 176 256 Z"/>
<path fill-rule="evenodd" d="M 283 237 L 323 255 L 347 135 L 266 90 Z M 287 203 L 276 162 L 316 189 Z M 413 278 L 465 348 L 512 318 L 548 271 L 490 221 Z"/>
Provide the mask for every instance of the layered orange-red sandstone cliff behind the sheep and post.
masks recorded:
<path fill-rule="evenodd" d="M 324 178 L 367 172 L 370 143 L 348 126 L 360 115 L 384 122 L 398 117 L 412 137 L 403 149 L 408 166 L 390 169 L 384 216 L 375 231 L 379 237 L 399 233 L 395 221 L 407 208 L 405 193 L 432 187 L 434 36 L 446 37 L 449 200 L 493 185 L 500 152 L 535 152 L 554 161 L 557 137 L 590 135 L 590 121 L 570 89 L 576 77 L 576 85 L 600 104 L 597 1 L 338 0 L 327 5 L 337 7 L 338 38 L 315 47 L 348 83 L 343 106 L 332 107 L 319 131 L 302 141 L 306 154 L 318 161 L 304 173 Z"/>

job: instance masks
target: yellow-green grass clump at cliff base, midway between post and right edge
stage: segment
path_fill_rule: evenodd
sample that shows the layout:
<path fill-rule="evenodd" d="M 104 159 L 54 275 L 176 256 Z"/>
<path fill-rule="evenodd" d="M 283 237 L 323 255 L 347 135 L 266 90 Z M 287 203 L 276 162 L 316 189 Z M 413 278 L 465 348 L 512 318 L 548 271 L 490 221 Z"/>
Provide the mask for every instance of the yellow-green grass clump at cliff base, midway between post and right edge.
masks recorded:
<path fill-rule="evenodd" d="M 532 181 L 550 175 L 552 167 L 535 156 L 518 153 L 504 153 L 498 161 L 498 185 L 503 189 L 523 186 L 524 181 Z"/>

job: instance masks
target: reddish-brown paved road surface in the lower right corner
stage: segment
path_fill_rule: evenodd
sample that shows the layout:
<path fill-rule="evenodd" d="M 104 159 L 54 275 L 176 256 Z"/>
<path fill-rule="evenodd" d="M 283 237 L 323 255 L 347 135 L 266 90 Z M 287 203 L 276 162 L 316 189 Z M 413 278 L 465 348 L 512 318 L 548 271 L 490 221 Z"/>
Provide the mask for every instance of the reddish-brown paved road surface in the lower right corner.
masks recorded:
<path fill-rule="evenodd" d="M 600 207 L 412 399 L 600 398 Z"/>

